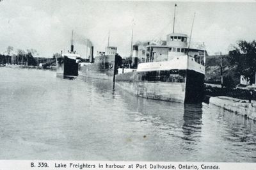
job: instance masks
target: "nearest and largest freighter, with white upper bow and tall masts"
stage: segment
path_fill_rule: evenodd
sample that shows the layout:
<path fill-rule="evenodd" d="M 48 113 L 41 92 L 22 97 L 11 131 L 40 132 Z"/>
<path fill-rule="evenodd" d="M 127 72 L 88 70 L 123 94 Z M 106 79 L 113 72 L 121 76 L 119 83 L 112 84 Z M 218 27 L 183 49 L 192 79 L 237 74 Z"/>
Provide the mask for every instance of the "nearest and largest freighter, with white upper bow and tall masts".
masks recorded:
<path fill-rule="evenodd" d="M 174 33 L 173 22 L 173 33 L 166 36 L 166 41 L 148 43 L 142 52 L 133 45 L 132 63 L 129 68 L 118 68 L 115 84 L 138 97 L 202 102 L 207 53 L 204 45 L 191 48 L 190 40 L 188 43 L 188 35 Z"/>

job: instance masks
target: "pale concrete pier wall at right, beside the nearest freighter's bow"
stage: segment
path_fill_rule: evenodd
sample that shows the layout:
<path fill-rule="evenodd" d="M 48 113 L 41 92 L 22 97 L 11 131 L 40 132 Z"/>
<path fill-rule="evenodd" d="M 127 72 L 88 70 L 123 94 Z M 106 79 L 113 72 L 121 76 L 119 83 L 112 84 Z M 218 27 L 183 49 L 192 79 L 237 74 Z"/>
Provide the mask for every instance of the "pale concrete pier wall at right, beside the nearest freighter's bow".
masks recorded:
<path fill-rule="evenodd" d="M 249 103 L 248 100 L 232 97 L 211 97 L 209 104 L 217 105 L 228 111 L 256 120 L 256 102 L 254 100 L 252 100 L 252 103 Z"/>

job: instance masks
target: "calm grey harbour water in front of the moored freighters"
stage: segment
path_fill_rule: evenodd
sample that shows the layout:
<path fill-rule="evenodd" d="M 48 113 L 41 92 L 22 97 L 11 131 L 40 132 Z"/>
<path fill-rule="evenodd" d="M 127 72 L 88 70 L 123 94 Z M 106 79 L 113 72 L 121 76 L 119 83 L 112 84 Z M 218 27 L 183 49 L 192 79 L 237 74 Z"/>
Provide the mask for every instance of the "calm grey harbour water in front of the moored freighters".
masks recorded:
<path fill-rule="evenodd" d="M 256 162 L 256 123 L 112 82 L 0 68 L 0 159 Z"/>

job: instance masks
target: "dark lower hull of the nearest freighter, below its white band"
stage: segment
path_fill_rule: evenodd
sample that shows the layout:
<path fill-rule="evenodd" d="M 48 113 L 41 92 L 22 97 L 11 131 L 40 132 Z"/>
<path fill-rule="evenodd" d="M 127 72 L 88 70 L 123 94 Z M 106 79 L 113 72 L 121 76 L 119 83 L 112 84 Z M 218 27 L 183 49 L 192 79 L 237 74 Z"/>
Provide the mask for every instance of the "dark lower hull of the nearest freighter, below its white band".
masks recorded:
<path fill-rule="evenodd" d="M 204 97 L 204 74 L 194 70 L 129 72 L 115 84 L 138 97 L 168 102 L 199 103 Z"/>

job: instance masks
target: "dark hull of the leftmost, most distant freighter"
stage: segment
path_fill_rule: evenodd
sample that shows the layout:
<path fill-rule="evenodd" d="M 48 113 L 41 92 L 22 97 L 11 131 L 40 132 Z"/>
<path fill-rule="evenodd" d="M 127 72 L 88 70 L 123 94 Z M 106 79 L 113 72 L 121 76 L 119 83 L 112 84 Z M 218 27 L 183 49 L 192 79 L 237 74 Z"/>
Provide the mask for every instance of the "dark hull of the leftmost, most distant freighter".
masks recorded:
<path fill-rule="evenodd" d="M 56 76 L 64 79 L 75 79 L 78 76 L 78 63 L 76 63 L 76 59 L 70 59 L 67 56 L 58 58 Z"/>

